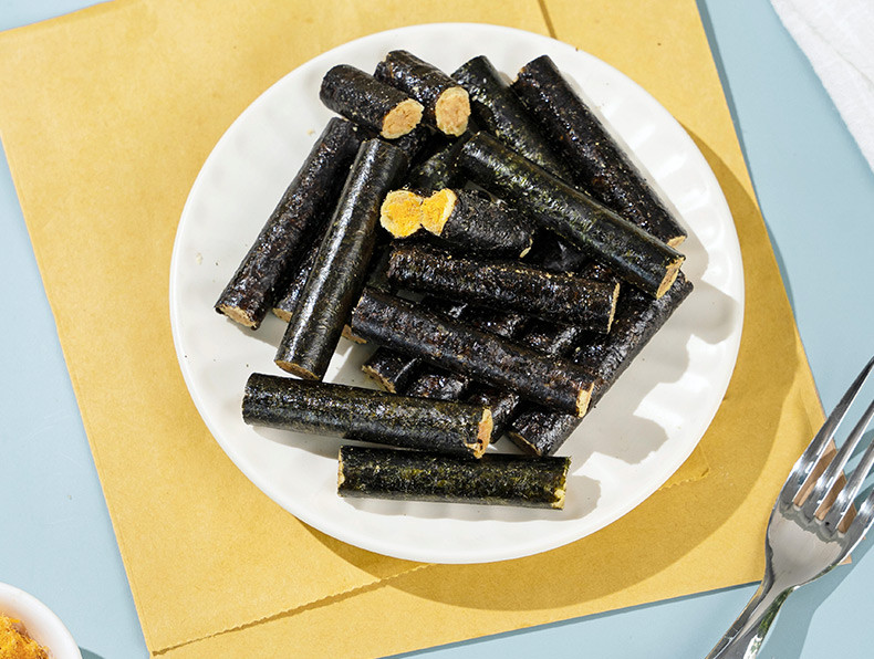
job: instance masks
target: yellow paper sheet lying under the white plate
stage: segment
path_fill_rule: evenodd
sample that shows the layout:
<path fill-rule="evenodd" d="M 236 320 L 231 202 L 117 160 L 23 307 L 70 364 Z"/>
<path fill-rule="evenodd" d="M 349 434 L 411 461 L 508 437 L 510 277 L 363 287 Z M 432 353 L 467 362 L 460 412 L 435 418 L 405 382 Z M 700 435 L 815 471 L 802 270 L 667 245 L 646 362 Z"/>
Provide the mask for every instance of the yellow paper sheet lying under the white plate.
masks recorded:
<path fill-rule="evenodd" d="M 678 484 L 594 536 L 485 566 L 378 556 L 280 510 L 207 432 L 168 320 L 181 208 L 237 115 L 324 50 L 443 21 L 553 33 L 653 93 L 714 168 L 748 275 L 738 366 Z M 693 0 L 122 0 L 1 34 L 0 88 L 153 655 L 379 656 L 759 578 L 773 495 L 822 412 Z"/>

